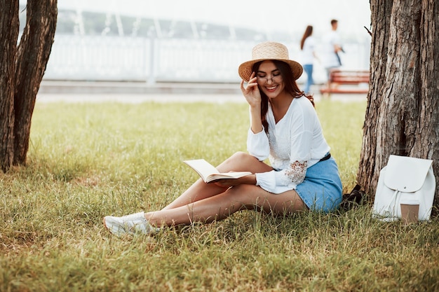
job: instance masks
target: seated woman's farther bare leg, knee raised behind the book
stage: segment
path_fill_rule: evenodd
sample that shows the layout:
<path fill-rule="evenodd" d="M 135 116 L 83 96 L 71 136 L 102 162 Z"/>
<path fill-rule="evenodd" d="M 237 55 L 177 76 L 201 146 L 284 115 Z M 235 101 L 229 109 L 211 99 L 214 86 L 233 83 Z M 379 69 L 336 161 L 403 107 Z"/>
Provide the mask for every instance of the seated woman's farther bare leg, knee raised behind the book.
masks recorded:
<path fill-rule="evenodd" d="M 269 172 L 272 168 L 264 162 L 260 162 L 257 158 L 244 152 L 237 152 L 231 155 L 230 158 L 224 160 L 217 169 L 219 172 Z M 215 183 L 205 183 L 198 179 L 192 186 L 190 186 L 180 197 L 177 197 L 173 202 L 164 207 L 162 211 L 182 207 L 187 204 L 204 200 L 208 197 L 224 193 L 227 188 L 217 186 Z"/>

